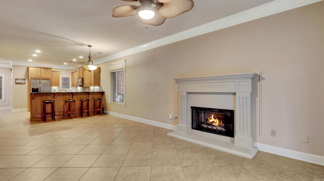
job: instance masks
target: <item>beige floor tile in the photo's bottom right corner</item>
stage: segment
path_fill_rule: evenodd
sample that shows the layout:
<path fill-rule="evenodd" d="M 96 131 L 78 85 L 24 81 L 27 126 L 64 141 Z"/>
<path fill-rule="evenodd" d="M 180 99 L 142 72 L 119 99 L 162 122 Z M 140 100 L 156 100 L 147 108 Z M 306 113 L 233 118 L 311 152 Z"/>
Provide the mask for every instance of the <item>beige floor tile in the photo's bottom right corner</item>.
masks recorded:
<path fill-rule="evenodd" d="M 315 171 L 312 171 L 301 164 L 293 164 L 293 165 L 273 165 L 280 171 L 287 174 L 289 177 L 294 180 L 316 180 L 316 179 L 324 179 L 324 175 L 319 174 Z"/>

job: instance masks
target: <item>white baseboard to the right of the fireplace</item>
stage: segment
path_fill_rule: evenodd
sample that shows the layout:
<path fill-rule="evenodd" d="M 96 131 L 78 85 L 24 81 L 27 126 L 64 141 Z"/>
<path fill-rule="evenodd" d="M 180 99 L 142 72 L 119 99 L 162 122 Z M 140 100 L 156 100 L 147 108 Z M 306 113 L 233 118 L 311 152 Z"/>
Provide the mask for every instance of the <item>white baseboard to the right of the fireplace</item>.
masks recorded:
<path fill-rule="evenodd" d="M 254 143 L 254 146 L 258 147 L 260 151 L 286 156 L 289 158 L 294 158 L 297 160 L 307 161 L 310 163 L 315 163 L 319 165 L 324 165 L 324 156 L 313 155 L 309 153 L 303 153 L 299 151 L 289 150 L 286 148 L 275 147 L 271 145 L 266 145 L 262 143 Z"/>

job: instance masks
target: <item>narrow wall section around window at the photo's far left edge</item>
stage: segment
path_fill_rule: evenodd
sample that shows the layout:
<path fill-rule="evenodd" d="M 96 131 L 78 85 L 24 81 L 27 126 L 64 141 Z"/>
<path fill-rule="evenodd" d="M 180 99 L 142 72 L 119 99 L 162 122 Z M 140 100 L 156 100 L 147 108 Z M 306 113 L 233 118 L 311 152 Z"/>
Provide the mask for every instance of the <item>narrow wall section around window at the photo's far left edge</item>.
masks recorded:
<path fill-rule="evenodd" d="M 2 68 L 0 67 L 0 74 L 4 75 L 4 93 L 5 93 L 5 100 L 0 101 L 0 108 L 1 107 L 11 107 L 11 68 Z"/>

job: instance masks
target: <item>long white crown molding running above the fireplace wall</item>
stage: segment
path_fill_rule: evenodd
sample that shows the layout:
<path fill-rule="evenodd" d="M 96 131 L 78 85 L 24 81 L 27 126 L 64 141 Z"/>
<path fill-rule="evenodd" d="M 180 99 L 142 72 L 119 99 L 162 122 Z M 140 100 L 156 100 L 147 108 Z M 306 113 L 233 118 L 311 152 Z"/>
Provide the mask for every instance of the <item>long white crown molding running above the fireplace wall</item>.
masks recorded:
<path fill-rule="evenodd" d="M 113 59 L 121 58 L 138 52 L 146 51 L 159 46 L 164 46 L 170 43 L 181 41 L 184 39 L 192 38 L 195 36 L 203 35 L 241 23 L 249 22 L 266 16 L 274 15 L 280 12 L 288 11 L 291 9 L 299 8 L 309 4 L 317 3 L 322 0 L 275 0 L 246 11 L 242 11 L 219 20 L 206 23 L 158 40 L 154 40 L 124 51 L 120 51 L 109 56 L 105 56 L 94 61 L 94 64 L 101 64 L 104 62 L 112 61 Z"/>

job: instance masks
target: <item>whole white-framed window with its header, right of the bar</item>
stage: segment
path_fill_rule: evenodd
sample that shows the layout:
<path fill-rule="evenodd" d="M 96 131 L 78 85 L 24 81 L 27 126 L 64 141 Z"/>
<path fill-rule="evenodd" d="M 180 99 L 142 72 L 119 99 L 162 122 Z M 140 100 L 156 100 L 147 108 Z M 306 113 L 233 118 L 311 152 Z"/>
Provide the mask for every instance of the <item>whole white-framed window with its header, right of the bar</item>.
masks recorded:
<path fill-rule="evenodd" d="M 109 66 L 110 96 L 109 104 L 126 106 L 125 104 L 125 61 L 119 61 Z"/>

